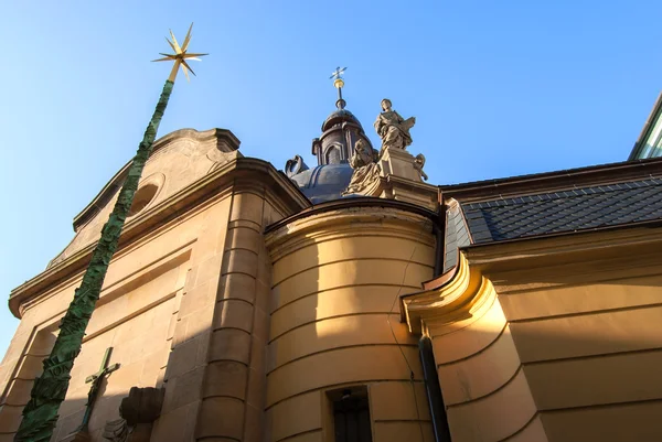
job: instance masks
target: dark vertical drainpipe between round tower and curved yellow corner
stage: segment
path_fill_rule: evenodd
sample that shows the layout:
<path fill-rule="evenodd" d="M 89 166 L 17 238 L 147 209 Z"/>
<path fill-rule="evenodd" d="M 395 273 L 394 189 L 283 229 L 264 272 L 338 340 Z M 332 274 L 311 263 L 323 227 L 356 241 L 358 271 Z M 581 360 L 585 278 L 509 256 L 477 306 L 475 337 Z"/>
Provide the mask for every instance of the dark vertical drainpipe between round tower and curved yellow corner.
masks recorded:
<path fill-rule="evenodd" d="M 428 336 L 421 336 L 418 341 L 418 351 L 420 353 L 420 363 L 423 365 L 425 390 L 430 407 L 435 441 L 451 442 L 448 418 L 446 416 L 446 406 L 444 405 L 441 387 L 439 386 L 439 376 L 437 375 L 437 364 L 435 364 L 435 355 L 433 353 L 433 341 Z"/>

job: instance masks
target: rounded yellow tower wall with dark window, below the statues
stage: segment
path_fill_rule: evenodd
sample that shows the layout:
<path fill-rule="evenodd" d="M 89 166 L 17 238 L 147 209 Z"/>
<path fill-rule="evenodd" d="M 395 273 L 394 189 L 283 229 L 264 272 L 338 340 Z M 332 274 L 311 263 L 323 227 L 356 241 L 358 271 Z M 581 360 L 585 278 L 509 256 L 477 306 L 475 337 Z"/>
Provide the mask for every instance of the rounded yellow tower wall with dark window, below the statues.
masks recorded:
<path fill-rule="evenodd" d="M 431 226 L 398 211 L 355 211 L 311 215 L 267 238 L 270 441 L 329 440 L 327 391 L 357 385 L 369 389 L 374 441 L 433 439 L 417 338 L 397 306 L 398 294 L 433 276 Z"/>

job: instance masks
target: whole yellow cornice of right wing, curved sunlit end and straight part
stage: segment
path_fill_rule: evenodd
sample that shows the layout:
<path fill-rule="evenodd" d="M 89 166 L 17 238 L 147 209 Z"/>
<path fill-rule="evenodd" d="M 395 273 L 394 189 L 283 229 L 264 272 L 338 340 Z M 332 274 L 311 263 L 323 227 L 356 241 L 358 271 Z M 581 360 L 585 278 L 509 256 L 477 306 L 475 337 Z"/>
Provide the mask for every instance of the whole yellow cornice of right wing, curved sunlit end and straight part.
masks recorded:
<path fill-rule="evenodd" d="M 474 315 L 500 294 L 592 281 L 659 274 L 662 227 L 583 233 L 526 241 L 469 246 L 458 266 L 401 298 L 402 319 L 412 333 L 430 324 Z"/>

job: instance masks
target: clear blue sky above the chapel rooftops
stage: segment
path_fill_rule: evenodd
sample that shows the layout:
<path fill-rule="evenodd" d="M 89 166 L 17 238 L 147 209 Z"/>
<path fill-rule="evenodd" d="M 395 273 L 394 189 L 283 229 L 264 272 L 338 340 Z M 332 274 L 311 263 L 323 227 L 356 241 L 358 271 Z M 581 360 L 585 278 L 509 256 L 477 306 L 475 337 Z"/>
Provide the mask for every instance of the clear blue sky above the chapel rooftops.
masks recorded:
<path fill-rule="evenodd" d="M 226 128 L 247 157 L 311 165 L 342 65 L 375 145 L 388 97 L 417 117 L 430 182 L 450 184 L 626 160 L 662 89 L 660 17 L 660 1 L 9 2 L 0 293 L 45 268 L 134 155 L 169 28 L 195 22 L 191 50 L 211 55 L 179 78 L 159 136 Z M 0 309 L 0 355 L 17 324 Z"/>

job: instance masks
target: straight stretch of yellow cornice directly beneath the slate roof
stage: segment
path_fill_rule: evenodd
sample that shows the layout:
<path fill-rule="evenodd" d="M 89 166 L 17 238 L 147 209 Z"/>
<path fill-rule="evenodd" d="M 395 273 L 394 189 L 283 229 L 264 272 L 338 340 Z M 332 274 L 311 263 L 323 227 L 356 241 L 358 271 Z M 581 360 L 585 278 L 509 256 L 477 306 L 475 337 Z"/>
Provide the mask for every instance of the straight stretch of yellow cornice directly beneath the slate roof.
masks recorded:
<path fill-rule="evenodd" d="M 623 271 L 658 274 L 661 247 L 662 228 L 640 227 L 471 246 L 461 255 L 499 293 L 514 293 L 618 279 Z"/>

